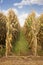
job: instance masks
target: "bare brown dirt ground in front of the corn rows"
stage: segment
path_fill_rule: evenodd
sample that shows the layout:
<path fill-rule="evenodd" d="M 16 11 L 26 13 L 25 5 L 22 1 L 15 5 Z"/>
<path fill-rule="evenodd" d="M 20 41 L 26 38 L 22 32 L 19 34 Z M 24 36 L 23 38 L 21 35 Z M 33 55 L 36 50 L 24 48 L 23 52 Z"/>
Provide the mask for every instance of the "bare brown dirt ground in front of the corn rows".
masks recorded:
<path fill-rule="evenodd" d="M 0 58 L 0 65 L 43 65 L 43 56 L 9 56 Z"/>

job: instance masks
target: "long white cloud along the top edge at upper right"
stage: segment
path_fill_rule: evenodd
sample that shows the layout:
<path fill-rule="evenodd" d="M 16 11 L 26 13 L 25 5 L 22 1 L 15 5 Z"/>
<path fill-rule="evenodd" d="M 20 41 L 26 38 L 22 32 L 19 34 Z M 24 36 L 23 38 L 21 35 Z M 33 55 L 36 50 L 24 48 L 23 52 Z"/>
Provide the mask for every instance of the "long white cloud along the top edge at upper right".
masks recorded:
<path fill-rule="evenodd" d="M 43 0 L 22 0 L 20 3 L 14 3 L 14 6 L 22 8 L 24 5 L 38 4 L 43 5 Z"/>

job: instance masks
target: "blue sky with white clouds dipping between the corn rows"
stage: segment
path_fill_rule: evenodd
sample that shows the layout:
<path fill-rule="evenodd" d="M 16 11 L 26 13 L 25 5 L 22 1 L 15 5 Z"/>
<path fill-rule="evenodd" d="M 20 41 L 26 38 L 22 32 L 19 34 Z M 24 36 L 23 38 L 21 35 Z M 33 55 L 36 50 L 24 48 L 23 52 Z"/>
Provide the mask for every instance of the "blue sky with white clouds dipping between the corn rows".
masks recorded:
<path fill-rule="evenodd" d="M 37 16 L 43 13 L 43 0 L 0 0 L 0 11 L 7 14 L 9 8 L 15 11 L 20 25 L 23 26 L 27 15 L 33 10 Z"/>

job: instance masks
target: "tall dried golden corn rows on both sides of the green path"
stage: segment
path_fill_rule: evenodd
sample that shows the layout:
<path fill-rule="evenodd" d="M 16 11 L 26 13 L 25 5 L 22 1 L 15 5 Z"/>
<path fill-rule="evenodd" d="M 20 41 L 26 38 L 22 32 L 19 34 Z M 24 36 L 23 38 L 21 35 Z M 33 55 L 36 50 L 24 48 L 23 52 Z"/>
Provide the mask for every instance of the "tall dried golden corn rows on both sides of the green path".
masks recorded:
<path fill-rule="evenodd" d="M 20 29 L 19 20 L 12 9 L 8 10 L 7 16 L 0 12 L 0 50 L 5 47 L 6 57 L 11 54 L 13 44 L 16 44 L 19 38 Z M 43 14 L 39 17 L 36 17 L 35 12 L 29 14 L 22 30 L 28 47 L 33 55 L 37 56 L 38 51 L 43 50 Z"/>

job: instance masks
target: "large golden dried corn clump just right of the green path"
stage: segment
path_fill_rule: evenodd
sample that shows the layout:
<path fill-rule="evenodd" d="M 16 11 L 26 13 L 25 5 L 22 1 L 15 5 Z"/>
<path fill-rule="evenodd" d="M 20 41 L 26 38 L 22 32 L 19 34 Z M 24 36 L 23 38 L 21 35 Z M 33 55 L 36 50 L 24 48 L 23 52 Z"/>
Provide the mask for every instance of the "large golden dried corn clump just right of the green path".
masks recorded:
<path fill-rule="evenodd" d="M 40 20 L 36 18 L 35 12 L 32 12 L 25 21 L 24 34 L 34 55 L 37 55 L 37 35 L 39 30 Z"/>

